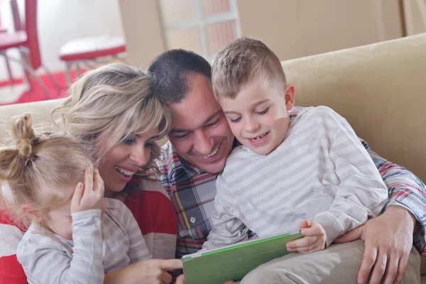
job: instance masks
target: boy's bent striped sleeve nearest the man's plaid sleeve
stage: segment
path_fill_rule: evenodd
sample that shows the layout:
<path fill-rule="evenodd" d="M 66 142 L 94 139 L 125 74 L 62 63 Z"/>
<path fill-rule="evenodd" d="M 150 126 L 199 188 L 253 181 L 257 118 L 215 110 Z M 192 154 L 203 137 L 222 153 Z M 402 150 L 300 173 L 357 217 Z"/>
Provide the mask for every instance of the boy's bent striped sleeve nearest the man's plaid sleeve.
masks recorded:
<path fill-rule="evenodd" d="M 332 206 L 314 218 L 323 226 L 329 246 L 338 236 L 364 224 L 368 216 L 376 217 L 388 194 L 378 170 L 348 122 L 331 109 L 321 111 L 315 119 L 340 180 Z"/>

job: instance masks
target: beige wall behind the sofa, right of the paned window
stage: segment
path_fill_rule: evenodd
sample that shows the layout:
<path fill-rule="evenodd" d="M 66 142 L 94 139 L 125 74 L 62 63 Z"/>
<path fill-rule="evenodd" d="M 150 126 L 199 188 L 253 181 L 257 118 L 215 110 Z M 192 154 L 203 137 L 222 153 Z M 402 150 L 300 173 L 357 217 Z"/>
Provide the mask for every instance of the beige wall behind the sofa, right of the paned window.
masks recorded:
<path fill-rule="evenodd" d="M 243 35 L 280 60 L 403 36 L 399 0 L 237 0 Z"/>

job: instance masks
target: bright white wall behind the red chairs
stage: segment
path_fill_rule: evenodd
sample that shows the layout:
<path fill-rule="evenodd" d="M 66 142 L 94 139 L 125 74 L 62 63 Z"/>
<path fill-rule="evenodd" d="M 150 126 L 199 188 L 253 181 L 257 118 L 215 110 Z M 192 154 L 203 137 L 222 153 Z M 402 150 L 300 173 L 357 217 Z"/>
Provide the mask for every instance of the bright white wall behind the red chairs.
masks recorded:
<path fill-rule="evenodd" d="M 24 0 L 17 0 L 23 16 Z M 1 26 L 13 31 L 9 0 L 1 1 Z M 51 72 L 65 70 L 59 50 L 68 40 L 89 35 L 123 35 L 118 0 L 38 0 L 38 40 L 41 58 Z M 12 50 L 8 55 L 15 58 Z M 22 77 L 22 67 L 13 63 L 13 77 Z M 0 60 L 0 81 L 8 75 Z"/>

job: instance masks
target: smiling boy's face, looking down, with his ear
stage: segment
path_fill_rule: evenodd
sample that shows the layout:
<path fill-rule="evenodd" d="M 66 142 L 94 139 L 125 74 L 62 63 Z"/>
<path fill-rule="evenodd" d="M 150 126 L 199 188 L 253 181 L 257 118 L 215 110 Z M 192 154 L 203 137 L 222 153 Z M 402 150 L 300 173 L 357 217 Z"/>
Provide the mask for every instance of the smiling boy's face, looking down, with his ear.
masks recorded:
<path fill-rule="evenodd" d="M 283 92 L 263 82 L 241 89 L 235 99 L 219 98 L 232 133 L 254 153 L 266 155 L 283 142 L 290 124 L 295 88 L 288 84 Z"/>

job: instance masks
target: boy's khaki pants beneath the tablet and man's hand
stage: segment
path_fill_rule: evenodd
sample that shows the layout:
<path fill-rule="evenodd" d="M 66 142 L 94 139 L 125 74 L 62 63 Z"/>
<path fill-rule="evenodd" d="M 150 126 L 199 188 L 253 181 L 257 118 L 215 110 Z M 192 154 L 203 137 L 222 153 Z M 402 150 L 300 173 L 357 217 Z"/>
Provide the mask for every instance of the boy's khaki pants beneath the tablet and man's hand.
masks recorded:
<path fill-rule="evenodd" d="M 251 271 L 241 284 L 356 284 L 364 257 L 364 242 L 334 244 L 315 253 L 290 253 Z M 413 248 L 408 259 L 404 284 L 420 284 L 420 254 Z"/>

